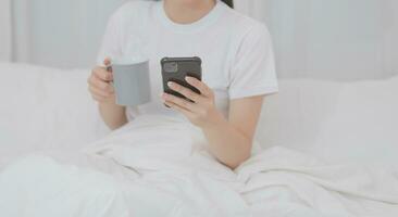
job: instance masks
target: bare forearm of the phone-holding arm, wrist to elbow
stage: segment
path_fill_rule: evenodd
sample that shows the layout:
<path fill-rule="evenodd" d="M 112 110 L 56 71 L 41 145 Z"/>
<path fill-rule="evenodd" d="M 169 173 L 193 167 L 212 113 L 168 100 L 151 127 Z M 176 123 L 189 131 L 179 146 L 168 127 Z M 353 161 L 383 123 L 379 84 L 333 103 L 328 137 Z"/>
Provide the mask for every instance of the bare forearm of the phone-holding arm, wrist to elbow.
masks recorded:
<path fill-rule="evenodd" d="M 235 169 L 250 157 L 251 139 L 224 117 L 203 127 L 202 131 L 208 139 L 210 152 L 229 168 Z"/>

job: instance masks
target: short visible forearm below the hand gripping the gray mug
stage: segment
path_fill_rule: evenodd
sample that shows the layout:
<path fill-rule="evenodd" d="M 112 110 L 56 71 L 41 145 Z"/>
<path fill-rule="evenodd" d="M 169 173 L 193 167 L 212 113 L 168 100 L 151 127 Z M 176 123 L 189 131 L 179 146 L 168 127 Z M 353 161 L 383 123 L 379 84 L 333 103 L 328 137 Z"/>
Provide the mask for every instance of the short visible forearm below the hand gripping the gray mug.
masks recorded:
<path fill-rule="evenodd" d="M 117 129 L 127 123 L 125 106 L 113 103 L 99 103 L 99 111 L 103 122 L 112 130 Z"/>

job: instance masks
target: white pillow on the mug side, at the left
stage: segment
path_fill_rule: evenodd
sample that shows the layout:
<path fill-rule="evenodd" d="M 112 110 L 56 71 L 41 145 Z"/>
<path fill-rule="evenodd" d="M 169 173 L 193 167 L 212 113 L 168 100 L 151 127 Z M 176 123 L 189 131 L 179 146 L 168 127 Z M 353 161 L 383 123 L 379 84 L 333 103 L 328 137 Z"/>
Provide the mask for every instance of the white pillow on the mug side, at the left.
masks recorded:
<path fill-rule="evenodd" d="M 0 152 L 79 149 L 105 135 L 88 75 L 0 63 Z"/>

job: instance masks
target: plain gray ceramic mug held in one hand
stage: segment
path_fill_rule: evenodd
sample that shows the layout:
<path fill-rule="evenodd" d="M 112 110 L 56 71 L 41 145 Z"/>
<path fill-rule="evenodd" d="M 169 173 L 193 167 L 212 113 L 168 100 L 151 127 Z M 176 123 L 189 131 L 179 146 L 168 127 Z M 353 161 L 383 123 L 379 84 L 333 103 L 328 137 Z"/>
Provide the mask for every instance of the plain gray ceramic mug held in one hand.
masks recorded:
<path fill-rule="evenodd" d="M 150 102 L 149 61 L 112 60 L 116 104 L 137 106 Z"/>

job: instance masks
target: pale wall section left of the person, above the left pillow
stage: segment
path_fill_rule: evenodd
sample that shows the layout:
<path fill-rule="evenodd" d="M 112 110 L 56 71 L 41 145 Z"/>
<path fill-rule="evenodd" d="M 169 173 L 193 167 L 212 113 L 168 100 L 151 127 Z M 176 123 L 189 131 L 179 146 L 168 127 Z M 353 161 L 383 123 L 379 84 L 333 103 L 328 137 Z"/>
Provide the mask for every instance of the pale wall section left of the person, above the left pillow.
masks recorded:
<path fill-rule="evenodd" d="M 94 64 L 109 15 L 124 0 L 13 0 L 14 60 L 59 67 Z"/>

